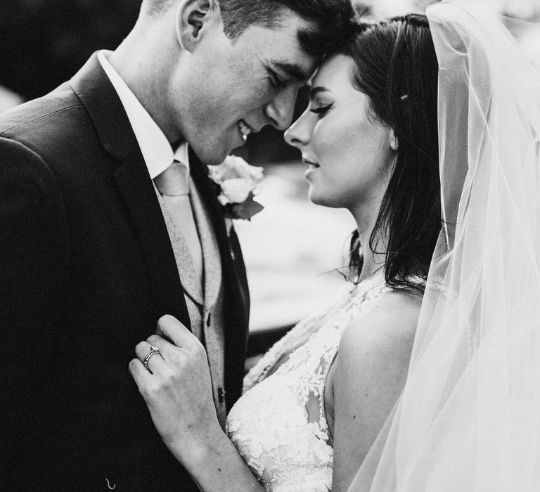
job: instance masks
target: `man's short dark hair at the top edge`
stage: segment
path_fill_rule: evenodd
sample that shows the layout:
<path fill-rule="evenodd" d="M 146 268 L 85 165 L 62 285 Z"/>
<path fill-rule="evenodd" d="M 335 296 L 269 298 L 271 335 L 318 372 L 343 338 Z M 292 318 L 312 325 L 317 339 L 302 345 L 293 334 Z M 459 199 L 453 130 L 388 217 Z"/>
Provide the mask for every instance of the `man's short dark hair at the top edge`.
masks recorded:
<path fill-rule="evenodd" d="M 219 0 L 224 32 L 237 39 L 250 25 L 278 27 L 291 12 L 313 22 L 314 30 L 301 30 L 302 49 L 321 58 L 334 51 L 352 27 L 354 11 L 350 0 Z"/>

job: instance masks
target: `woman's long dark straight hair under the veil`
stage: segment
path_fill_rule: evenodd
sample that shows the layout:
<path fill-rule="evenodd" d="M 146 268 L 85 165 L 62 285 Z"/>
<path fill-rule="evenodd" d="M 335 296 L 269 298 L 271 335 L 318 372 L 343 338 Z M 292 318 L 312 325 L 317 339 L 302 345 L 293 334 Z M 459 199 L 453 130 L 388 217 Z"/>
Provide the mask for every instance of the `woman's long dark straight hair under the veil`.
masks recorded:
<path fill-rule="evenodd" d="M 441 228 L 437 137 L 437 56 L 425 15 L 359 24 L 338 50 L 354 61 L 352 83 L 368 96 L 370 116 L 391 127 L 398 150 L 371 233 L 384 238 L 387 285 L 422 287 Z M 362 268 L 358 232 L 351 238 L 349 276 Z"/>

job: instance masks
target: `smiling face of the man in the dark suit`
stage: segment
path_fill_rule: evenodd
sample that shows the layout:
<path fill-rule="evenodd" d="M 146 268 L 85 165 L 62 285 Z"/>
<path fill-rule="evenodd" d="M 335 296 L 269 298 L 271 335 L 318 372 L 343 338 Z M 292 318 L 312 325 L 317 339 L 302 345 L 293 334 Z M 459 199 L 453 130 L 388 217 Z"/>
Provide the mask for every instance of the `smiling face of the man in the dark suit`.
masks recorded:
<path fill-rule="evenodd" d="M 191 53 L 188 84 L 173 93 L 181 134 L 203 162 L 219 164 L 266 124 L 289 126 L 297 90 L 316 63 L 297 39 L 309 27 L 290 13 L 279 27 L 251 25 L 234 40 L 221 21 L 205 32 Z"/>

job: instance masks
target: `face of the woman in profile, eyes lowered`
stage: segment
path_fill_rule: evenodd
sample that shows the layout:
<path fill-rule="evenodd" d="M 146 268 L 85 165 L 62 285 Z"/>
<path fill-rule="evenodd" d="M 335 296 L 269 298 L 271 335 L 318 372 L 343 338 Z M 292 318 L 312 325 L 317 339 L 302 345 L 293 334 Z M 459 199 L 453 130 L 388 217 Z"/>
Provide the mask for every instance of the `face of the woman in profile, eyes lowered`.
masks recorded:
<path fill-rule="evenodd" d="M 345 207 L 355 216 L 378 212 L 394 157 L 392 130 L 369 112 L 369 98 L 352 86 L 353 62 L 342 55 L 321 65 L 311 81 L 310 103 L 286 131 L 302 151 L 309 199 Z"/>

